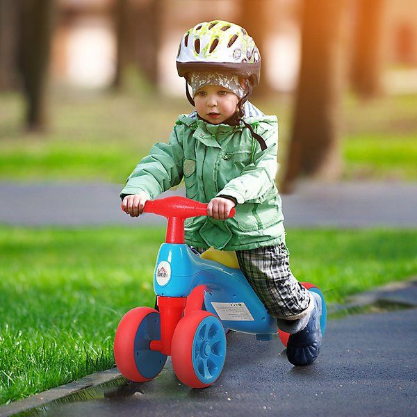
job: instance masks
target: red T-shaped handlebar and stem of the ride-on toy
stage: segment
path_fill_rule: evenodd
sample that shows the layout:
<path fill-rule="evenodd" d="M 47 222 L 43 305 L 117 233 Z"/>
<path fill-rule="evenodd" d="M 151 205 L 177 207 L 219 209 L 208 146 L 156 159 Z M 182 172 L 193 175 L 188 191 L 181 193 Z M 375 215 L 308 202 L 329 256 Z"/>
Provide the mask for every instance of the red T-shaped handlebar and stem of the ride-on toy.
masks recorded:
<path fill-rule="evenodd" d="M 175 196 L 148 200 L 143 208 L 144 213 L 163 215 L 168 219 L 166 243 L 184 243 L 184 221 L 186 218 L 207 215 L 207 204 Z M 232 208 L 229 217 L 234 217 Z"/>

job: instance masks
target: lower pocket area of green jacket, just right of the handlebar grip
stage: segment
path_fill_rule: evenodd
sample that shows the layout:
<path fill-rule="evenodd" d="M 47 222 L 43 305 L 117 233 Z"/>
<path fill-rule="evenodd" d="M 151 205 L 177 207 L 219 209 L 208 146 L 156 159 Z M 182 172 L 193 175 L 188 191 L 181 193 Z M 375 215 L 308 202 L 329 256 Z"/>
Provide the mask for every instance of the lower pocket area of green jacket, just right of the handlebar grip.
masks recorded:
<path fill-rule="evenodd" d="M 242 231 L 265 229 L 278 221 L 279 211 L 276 206 L 250 203 L 236 206 L 236 222 Z"/>

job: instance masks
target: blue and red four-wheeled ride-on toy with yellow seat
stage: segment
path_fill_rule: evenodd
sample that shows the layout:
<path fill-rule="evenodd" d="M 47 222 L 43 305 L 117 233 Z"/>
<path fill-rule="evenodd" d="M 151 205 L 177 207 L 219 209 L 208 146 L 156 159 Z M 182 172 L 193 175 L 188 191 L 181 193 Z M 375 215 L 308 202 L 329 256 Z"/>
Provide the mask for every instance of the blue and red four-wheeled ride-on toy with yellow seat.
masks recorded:
<path fill-rule="evenodd" d="M 117 367 L 127 379 L 145 382 L 156 377 L 171 356 L 183 384 L 204 388 L 222 372 L 227 329 L 269 341 L 278 332 L 277 321 L 248 284 L 234 252 L 210 249 L 198 256 L 184 243 L 185 219 L 207 215 L 207 204 L 167 197 L 147 201 L 144 212 L 168 220 L 154 272 L 159 311 L 137 307 L 124 315 L 115 335 Z M 324 332 L 325 298 L 313 284 L 303 285 L 322 298 Z M 285 346 L 288 336 L 279 331 Z"/>

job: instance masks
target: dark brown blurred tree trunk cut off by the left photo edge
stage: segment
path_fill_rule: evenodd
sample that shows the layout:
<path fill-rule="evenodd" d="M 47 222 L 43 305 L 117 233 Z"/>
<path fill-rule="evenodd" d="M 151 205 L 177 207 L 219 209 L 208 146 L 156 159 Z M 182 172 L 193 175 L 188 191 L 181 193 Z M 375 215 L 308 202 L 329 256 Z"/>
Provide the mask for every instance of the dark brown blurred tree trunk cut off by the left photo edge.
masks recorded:
<path fill-rule="evenodd" d="M 19 3 L 0 0 L 0 90 L 15 90 L 17 71 L 17 21 Z"/>

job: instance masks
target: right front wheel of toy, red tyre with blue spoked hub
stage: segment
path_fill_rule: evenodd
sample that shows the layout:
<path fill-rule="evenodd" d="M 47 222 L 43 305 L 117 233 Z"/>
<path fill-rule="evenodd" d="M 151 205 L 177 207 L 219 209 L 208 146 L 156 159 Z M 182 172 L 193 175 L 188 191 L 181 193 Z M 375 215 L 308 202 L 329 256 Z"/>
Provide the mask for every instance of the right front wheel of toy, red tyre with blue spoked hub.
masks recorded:
<path fill-rule="evenodd" d="M 193 311 L 181 318 L 171 345 L 172 368 L 191 388 L 205 388 L 222 372 L 226 336 L 222 322 L 207 311 Z"/>

